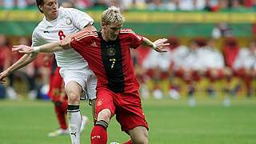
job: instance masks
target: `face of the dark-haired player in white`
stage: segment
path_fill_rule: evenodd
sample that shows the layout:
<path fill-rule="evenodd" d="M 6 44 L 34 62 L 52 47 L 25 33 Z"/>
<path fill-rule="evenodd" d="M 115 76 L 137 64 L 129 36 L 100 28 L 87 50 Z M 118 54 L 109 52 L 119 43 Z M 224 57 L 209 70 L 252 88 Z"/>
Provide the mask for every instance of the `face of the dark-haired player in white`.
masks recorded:
<path fill-rule="evenodd" d="M 39 6 L 48 21 L 58 17 L 58 0 L 44 0 L 43 5 Z"/>

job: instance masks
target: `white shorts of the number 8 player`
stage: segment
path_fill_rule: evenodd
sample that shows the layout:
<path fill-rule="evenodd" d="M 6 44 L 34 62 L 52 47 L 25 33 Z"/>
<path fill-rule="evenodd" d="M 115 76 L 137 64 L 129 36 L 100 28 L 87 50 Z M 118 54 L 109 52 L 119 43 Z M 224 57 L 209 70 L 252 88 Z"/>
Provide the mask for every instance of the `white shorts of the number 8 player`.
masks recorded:
<path fill-rule="evenodd" d="M 86 96 L 92 100 L 96 98 L 96 86 L 97 78 L 91 70 L 72 70 L 70 68 L 61 68 L 59 74 L 62 75 L 64 84 L 68 82 L 77 82 L 82 86 L 82 90 L 86 93 Z"/>

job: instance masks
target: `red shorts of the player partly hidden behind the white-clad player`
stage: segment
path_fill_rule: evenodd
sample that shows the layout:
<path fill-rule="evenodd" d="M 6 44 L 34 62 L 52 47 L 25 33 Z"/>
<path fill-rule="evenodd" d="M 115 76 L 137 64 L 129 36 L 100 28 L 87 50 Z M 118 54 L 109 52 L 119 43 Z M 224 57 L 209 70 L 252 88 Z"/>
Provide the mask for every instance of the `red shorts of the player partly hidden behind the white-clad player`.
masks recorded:
<path fill-rule="evenodd" d="M 62 94 L 65 94 L 63 79 L 58 71 L 59 67 L 55 70 L 55 73 L 50 76 L 50 90 L 48 95 L 53 102 L 59 102 Z M 66 94 L 64 97 L 64 99 L 67 99 Z"/>

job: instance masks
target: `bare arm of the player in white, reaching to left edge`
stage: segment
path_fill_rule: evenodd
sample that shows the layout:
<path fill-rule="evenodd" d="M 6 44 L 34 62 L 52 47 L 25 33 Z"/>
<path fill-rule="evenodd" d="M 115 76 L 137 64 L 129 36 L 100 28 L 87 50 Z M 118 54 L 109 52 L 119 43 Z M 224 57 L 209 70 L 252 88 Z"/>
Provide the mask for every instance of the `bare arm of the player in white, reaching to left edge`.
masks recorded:
<path fill-rule="evenodd" d="M 0 73 L 0 83 L 6 82 L 5 78 L 12 74 L 15 70 L 19 70 L 22 67 L 28 65 L 30 62 L 37 58 L 38 53 L 34 54 L 24 54 L 22 58 L 19 58 L 12 66 Z"/>

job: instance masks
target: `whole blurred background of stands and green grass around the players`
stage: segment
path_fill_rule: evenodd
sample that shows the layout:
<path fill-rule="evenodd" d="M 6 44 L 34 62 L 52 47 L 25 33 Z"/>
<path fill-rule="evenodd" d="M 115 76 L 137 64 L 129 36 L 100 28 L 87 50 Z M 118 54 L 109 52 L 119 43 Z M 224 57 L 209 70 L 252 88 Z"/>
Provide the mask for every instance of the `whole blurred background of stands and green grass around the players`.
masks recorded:
<path fill-rule="evenodd" d="M 124 28 L 170 42 L 165 54 L 131 50 L 150 143 L 256 143 L 256 0 L 59 2 L 85 11 L 98 30 L 102 11 L 119 6 Z M 12 46 L 30 45 L 41 20 L 35 0 L 0 0 L 0 71 L 22 57 Z M 46 95 L 52 57 L 40 54 L 0 85 L 0 143 L 70 143 L 68 136 L 46 136 L 57 127 Z M 91 114 L 87 102 L 80 106 L 82 114 Z M 90 143 L 92 126 L 90 121 L 82 143 Z M 112 120 L 109 142 L 128 139 L 119 131 Z"/>

